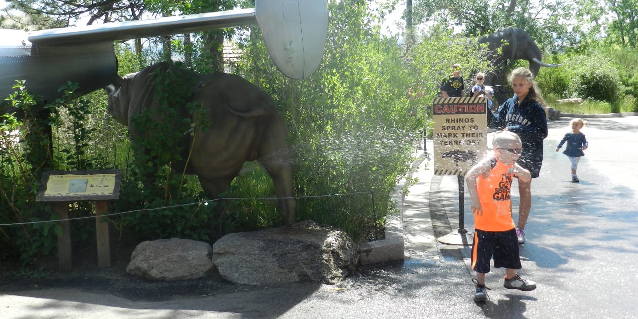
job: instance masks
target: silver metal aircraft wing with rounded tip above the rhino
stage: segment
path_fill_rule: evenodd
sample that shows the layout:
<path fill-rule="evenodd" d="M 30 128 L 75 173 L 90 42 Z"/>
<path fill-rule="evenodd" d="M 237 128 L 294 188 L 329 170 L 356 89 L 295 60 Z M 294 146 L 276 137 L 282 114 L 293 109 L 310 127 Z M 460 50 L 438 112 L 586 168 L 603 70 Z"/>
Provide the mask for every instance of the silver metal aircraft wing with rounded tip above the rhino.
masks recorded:
<path fill-rule="evenodd" d="M 0 98 L 26 80 L 45 101 L 58 88 L 78 82 L 85 94 L 110 84 L 117 75 L 114 41 L 192 33 L 258 24 L 267 50 L 290 78 L 306 78 L 321 63 L 327 38 L 327 0 L 256 0 L 255 8 L 114 22 L 26 33 L 0 29 Z"/>

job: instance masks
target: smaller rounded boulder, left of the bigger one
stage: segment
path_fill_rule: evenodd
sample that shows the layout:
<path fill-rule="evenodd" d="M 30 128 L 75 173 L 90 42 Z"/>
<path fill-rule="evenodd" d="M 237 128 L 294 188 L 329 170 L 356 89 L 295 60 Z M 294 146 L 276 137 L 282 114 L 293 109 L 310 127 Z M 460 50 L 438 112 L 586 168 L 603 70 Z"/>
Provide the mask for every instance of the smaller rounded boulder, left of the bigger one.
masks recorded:
<path fill-rule="evenodd" d="M 189 239 L 158 239 L 138 244 L 126 272 L 152 280 L 202 278 L 212 269 L 212 247 Z"/>

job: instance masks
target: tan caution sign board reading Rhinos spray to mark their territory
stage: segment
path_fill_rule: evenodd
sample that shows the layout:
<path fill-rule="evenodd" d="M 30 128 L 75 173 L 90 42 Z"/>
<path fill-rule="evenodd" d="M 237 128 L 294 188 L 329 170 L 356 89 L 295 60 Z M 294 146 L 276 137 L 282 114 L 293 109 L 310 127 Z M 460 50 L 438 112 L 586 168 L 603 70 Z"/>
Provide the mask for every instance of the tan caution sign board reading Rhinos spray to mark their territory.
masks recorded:
<path fill-rule="evenodd" d="M 487 99 L 436 98 L 434 175 L 465 175 L 487 151 Z"/>

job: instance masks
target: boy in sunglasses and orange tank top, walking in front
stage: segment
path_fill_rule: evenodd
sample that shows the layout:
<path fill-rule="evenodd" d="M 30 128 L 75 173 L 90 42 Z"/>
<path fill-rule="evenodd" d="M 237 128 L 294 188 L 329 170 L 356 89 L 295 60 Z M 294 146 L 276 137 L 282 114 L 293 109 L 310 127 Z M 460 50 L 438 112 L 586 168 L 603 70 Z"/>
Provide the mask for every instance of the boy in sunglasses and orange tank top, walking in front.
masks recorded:
<path fill-rule="evenodd" d="M 509 289 L 530 291 L 536 283 L 521 278 L 519 242 L 512 219 L 512 181 L 519 180 L 521 204 L 519 214 L 531 209 L 531 174 L 516 161 L 521 156 L 521 138 L 511 131 L 498 131 L 493 140 L 494 156 L 483 159 L 465 175 L 471 198 L 470 211 L 474 214 L 474 241 L 471 268 L 476 272 L 474 302 L 487 300 L 485 277 L 494 267 L 505 267 L 505 283 Z"/>

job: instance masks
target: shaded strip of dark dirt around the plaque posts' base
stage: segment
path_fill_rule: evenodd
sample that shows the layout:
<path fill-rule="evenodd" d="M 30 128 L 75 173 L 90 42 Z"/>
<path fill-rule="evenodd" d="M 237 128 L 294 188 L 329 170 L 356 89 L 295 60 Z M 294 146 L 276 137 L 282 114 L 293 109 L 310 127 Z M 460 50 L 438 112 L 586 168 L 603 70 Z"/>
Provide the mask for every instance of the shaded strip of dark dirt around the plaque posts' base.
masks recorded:
<path fill-rule="evenodd" d="M 47 288 L 80 288 L 107 292 L 129 300 L 167 300 L 175 296 L 211 295 L 237 290 L 241 285 L 211 273 L 202 279 L 151 281 L 126 273 L 135 246 L 112 248 L 111 267 L 98 267 L 95 249 L 73 247 L 71 271 L 59 271 L 57 255 L 23 267 L 19 260 L 0 260 L 0 293 Z"/>

